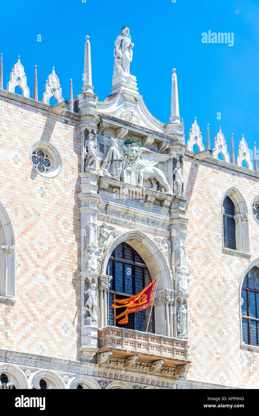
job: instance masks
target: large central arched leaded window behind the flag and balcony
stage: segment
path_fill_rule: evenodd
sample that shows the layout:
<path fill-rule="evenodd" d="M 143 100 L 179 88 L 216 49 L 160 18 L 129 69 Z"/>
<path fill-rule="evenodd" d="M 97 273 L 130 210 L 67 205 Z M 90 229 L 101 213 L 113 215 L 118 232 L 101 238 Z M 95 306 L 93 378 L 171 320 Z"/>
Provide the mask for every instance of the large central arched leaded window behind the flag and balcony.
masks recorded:
<path fill-rule="evenodd" d="M 110 275 L 112 275 L 109 306 L 112 305 L 114 299 L 137 295 L 152 282 L 144 260 L 127 243 L 121 243 L 113 250 L 108 265 L 110 266 Z M 108 265 L 106 274 L 108 274 Z M 129 314 L 129 322 L 121 325 L 117 323 L 115 315 L 122 313 L 123 310 L 125 310 L 123 307 L 117 310 L 109 307 L 109 325 L 146 332 L 150 308 Z M 154 329 L 153 308 L 147 332 L 154 333 Z"/>

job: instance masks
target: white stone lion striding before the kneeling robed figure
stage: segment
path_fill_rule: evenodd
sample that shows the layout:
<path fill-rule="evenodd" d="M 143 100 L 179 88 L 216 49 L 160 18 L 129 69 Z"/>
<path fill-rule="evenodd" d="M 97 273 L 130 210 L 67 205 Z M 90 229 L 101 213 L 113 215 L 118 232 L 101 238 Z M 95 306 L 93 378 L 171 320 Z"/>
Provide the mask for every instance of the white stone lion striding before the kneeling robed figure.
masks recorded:
<path fill-rule="evenodd" d="M 173 196 L 172 189 L 167 181 L 167 178 L 164 176 L 164 173 L 161 169 L 156 168 L 158 161 L 149 161 L 145 159 L 144 154 L 149 154 L 149 157 L 156 158 L 157 155 L 155 152 L 152 152 L 144 147 L 140 147 L 139 140 L 135 139 L 135 142 L 128 143 L 129 139 L 125 141 L 125 146 L 122 146 L 124 160 L 125 160 L 125 169 L 128 172 L 136 172 L 138 176 L 139 186 L 144 187 L 143 181 L 150 181 L 151 189 L 157 191 L 157 182 L 164 187 L 165 194 Z M 138 143 L 139 142 L 139 143 Z M 166 155 L 163 155 L 166 156 Z M 164 158 L 162 158 L 162 161 Z"/>

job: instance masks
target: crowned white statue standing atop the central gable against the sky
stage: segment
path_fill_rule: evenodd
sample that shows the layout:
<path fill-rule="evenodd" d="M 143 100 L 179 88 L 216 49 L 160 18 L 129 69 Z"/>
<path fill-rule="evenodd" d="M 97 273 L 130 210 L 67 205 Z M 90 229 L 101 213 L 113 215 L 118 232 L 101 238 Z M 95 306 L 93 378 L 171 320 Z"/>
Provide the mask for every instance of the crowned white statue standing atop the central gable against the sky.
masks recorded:
<path fill-rule="evenodd" d="M 129 28 L 127 26 L 122 27 L 122 32 L 115 41 L 113 54 L 115 63 L 121 65 L 123 72 L 126 74 L 129 74 L 133 46 L 134 43 L 131 42 L 129 36 Z"/>

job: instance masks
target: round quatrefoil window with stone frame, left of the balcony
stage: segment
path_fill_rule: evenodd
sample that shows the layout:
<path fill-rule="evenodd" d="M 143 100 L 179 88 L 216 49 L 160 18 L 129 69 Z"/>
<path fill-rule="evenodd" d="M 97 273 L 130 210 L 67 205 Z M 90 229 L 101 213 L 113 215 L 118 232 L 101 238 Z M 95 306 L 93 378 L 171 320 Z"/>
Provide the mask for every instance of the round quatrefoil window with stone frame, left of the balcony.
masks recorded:
<path fill-rule="evenodd" d="M 62 168 L 60 152 L 47 141 L 37 141 L 30 149 L 30 161 L 41 176 L 55 178 Z"/>

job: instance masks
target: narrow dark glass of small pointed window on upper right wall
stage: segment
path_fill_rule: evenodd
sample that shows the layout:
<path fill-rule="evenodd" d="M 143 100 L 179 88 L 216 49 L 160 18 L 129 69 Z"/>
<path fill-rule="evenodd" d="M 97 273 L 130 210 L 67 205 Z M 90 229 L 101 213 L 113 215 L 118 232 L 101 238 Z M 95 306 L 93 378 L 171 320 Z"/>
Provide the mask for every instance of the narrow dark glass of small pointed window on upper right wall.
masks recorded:
<path fill-rule="evenodd" d="M 224 199 L 223 207 L 224 247 L 236 250 L 235 207 L 229 196 Z"/>

